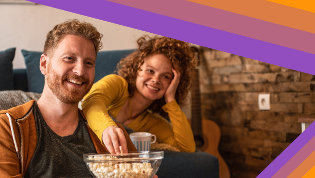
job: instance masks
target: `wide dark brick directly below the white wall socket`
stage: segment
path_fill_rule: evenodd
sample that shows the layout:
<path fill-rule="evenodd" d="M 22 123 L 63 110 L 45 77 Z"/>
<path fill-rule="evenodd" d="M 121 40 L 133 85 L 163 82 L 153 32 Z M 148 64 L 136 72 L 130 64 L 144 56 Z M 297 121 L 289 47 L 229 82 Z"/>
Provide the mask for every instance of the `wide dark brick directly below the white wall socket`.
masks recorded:
<path fill-rule="evenodd" d="M 247 120 L 264 120 L 269 122 L 283 122 L 285 114 L 281 112 L 247 112 Z"/>

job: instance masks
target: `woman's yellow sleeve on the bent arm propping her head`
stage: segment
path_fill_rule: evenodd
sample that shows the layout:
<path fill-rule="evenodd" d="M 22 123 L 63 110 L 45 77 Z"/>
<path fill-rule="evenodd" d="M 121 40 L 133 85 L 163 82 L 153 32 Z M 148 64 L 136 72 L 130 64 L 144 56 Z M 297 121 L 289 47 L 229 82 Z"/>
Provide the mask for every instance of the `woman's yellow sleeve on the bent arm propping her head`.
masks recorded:
<path fill-rule="evenodd" d="M 192 130 L 185 114 L 180 110 L 176 100 L 164 105 L 162 109 L 168 114 L 174 132 L 173 138 L 168 137 L 166 142 L 173 142 L 171 145 L 176 145 L 180 151 L 195 152 L 196 145 Z"/>

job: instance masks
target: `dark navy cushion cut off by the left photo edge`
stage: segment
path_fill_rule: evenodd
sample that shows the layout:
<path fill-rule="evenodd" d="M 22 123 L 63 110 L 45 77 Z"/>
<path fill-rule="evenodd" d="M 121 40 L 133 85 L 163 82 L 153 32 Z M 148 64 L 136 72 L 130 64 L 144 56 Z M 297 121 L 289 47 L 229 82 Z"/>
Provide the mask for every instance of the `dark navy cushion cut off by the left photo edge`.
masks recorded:
<path fill-rule="evenodd" d="M 13 65 L 16 48 L 0 51 L 0 91 L 13 90 Z"/>

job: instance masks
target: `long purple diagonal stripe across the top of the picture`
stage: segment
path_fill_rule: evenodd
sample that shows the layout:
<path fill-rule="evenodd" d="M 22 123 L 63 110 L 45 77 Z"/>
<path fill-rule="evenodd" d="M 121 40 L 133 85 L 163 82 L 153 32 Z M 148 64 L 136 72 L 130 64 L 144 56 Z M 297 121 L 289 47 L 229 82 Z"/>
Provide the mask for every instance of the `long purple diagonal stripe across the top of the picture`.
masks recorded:
<path fill-rule="evenodd" d="M 315 74 L 315 55 L 103 0 L 31 2 Z M 298 61 L 298 62 L 297 62 Z"/>

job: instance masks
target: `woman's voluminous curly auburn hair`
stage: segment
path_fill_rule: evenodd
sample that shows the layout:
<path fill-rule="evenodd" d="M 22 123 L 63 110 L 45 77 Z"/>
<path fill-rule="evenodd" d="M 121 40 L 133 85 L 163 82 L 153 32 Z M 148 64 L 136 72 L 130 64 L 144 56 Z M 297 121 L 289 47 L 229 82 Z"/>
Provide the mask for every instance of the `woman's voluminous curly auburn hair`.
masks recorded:
<path fill-rule="evenodd" d="M 148 36 L 139 38 L 137 43 L 138 50 L 123 58 L 117 64 L 118 74 L 128 82 L 130 97 L 133 97 L 138 71 L 144 63 L 144 59 L 149 55 L 164 54 L 171 61 L 173 67 L 181 73 L 175 100 L 179 106 L 183 106 L 191 86 L 194 66 L 197 64 L 194 50 L 189 47 L 189 43 L 168 37 L 151 39 Z M 165 104 L 163 97 L 155 100 L 148 109 L 165 116 L 166 113 L 162 110 L 162 106 Z"/>

